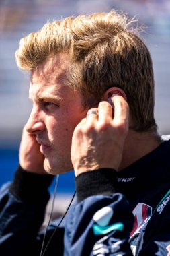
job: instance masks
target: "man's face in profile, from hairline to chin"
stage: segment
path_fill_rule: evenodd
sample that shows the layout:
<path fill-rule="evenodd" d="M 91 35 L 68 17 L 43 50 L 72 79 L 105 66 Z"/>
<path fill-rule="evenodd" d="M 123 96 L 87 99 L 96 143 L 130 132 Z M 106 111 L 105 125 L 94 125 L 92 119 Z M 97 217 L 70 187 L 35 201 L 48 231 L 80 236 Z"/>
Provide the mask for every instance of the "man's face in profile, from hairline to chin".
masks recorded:
<path fill-rule="evenodd" d="M 66 85 L 69 58 L 58 54 L 31 72 L 32 113 L 27 131 L 36 135 L 51 174 L 71 169 L 71 139 L 75 126 L 85 117 L 81 96 Z"/>

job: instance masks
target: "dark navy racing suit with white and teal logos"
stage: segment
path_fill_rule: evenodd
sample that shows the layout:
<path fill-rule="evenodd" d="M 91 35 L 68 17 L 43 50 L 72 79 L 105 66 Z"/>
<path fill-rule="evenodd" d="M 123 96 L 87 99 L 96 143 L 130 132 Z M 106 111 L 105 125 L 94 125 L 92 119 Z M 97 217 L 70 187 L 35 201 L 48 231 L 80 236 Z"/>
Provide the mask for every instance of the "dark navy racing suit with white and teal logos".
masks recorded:
<path fill-rule="evenodd" d="M 170 255 L 170 141 L 121 172 L 101 168 L 75 179 L 77 203 L 44 255 Z M 0 255 L 40 255 L 39 231 L 51 177 L 18 168 L 0 198 Z M 57 222 L 57 220 L 56 220 Z"/>

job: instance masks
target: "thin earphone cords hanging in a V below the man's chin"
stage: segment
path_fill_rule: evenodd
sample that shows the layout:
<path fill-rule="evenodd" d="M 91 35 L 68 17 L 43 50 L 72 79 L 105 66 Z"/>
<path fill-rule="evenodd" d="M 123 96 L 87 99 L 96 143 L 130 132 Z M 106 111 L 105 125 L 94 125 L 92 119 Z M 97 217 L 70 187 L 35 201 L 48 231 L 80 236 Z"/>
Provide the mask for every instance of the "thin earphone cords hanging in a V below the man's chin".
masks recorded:
<path fill-rule="evenodd" d="M 52 216 L 52 211 L 53 211 L 53 208 L 54 208 L 54 199 L 55 199 L 55 197 L 56 197 L 56 188 L 57 188 L 57 185 L 58 185 L 58 179 L 59 179 L 59 175 L 57 175 L 57 177 L 56 177 L 56 185 L 55 185 L 54 197 L 53 197 L 53 201 L 52 201 L 52 210 L 51 210 L 51 213 L 50 213 L 50 218 L 49 218 L 49 221 L 48 221 L 48 225 L 46 226 L 46 231 L 45 231 L 44 239 L 43 239 L 43 242 L 42 242 L 42 249 L 41 249 L 40 256 L 44 256 L 44 254 L 45 254 L 45 252 L 46 252 L 46 249 L 48 248 L 48 245 L 50 244 L 50 241 L 52 241 L 52 237 L 54 236 L 56 230 L 58 230 L 58 228 L 59 228 L 59 226 L 60 226 L 62 220 L 65 218 L 65 216 L 66 216 L 66 214 L 67 214 L 67 212 L 68 212 L 68 210 L 69 210 L 69 207 L 71 207 L 71 203 L 73 202 L 73 199 L 74 199 L 75 193 L 76 193 L 76 191 L 75 191 L 75 193 L 73 194 L 73 197 L 72 197 L 72 199 L 71 199 L 71 202 L 69 203 L 69 206 L 67 207 L 67 210 L 66 210 L 64 216 L 62 216 L 62 219 L 60 220 L 58 226 L 56 226 L 56 228 L 55 228 L 54 232 L 52 233 L 52 236 L 50 237 L 50 239 L 49 239 L 49 241 L 48 241 L 48 243 L 47 243 L 47 245 L 46 245 L 46 247 L 45 247 L 45 249 L 44 249 L 44 252 L 43 252 L 43 247 L 44 247 L 44 242 L 45 242 L 45 236 L 46 236 L 46 232 L 47 232 L 47 230 L 48 230 L 48 226 L 49 226 L 49 224 L 50 224 L 50 220 L 51 220 L 51 216 Z M 43 253 L 42 253 L 42 252 L 43 252 Z"/>

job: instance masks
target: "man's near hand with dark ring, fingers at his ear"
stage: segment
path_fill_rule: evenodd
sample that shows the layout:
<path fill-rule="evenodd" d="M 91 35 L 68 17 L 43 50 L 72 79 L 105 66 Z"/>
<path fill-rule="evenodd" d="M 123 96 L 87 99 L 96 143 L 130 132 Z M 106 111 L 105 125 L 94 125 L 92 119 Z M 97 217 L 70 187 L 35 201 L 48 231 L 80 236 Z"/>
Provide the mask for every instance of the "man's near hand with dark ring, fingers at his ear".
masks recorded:
<path fill-rule="evenodd" d="M 114 118 L 112 106 L 103 101 L 75 128 L 71 146 L 75 176 L 97 168 L 118 170 L 128 133 L 128 104 L 119 95 L 113 96 L 112 102 Z"/>

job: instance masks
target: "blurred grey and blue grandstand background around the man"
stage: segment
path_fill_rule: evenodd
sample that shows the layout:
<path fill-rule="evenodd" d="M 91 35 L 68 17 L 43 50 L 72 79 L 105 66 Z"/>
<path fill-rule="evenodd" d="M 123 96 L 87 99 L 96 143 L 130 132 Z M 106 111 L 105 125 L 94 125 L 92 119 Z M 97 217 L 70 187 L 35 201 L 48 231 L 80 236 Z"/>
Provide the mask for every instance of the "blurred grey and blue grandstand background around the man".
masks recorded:
<path fill-rule="evenodd" d="M 170 133 L 170 1 L 169 0 L 0 0 L 0 185 L 13 179 L 18 164 L 19 141 L 31 103 L 29 75 L 17 69 L 19 40 L 47 21 L 68 15 L 116 9 L 136 16 L 144 25 L 155 71 L 155 117 L 159 133 Z M 62 174 L 58 192 L 70 197 L 75 189 L 73 173 Z M 54 190 L 54 183 L 50 191 Z"/>

